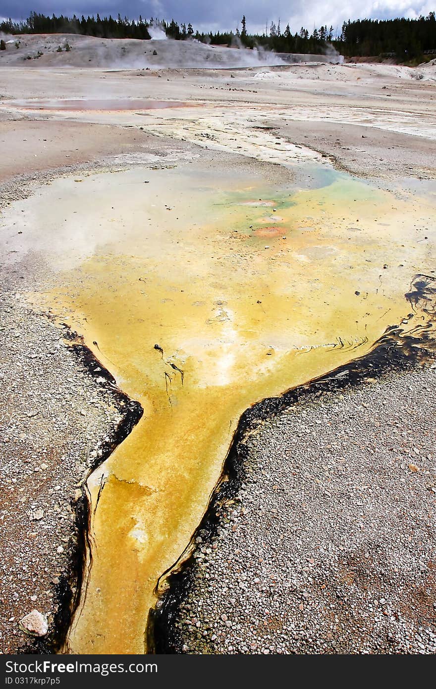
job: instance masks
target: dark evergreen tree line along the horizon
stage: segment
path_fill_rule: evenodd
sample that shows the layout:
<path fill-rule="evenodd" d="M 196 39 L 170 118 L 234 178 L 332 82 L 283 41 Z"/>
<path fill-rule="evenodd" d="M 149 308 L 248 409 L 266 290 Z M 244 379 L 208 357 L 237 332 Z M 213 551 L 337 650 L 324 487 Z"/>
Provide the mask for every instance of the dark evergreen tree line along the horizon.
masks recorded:
<path fill-rule="evenodd" d="M 73 33 L 86 36 L 117 39 L 145 39 L 151 38 L 149 28 L 157 25 L 167 37 L 183 41 L 197 39 L 203 43 L 214 45 L 237 45 L 245 48 L 261 46 L 267 50 L 276 52 L 302 52 L 322 54 L 329 45 L 333 45 L 338 52 L 345 56 L 376 56 L 380 54 L 392 54 L 398 59 L 408 60 L 436 50 L 436 20 L 435 12 L 430 12 L 427 17 L 418 19 L 357 19 L 344 22 L 340 32 L 333 26 L 322 25 L 313 28 L 309 33 L 304 27 L 293 33 L 289 23 L 284 30 L 280 25 L 280 19 L 276 24 L 265 26 L 262 34 L 250 34 L 247 30 L 247 20 L 242 17 L 240 25 L 235 31 L 229 32 L 199 32 L 194 31 L 191 23 L 178 24 L 172 21 L 149 20 L 140 17 L 128 19 L 127 17 L 112 16 L 94 17 L 82 16 L 64 17 L 62 14 L 56 17 L 48 17 L 45 14 L 32 12 L 25 21 L 12 21 L 12 19 L 0 22 L 0 32 L 9 34 L 54 34 Z"/>

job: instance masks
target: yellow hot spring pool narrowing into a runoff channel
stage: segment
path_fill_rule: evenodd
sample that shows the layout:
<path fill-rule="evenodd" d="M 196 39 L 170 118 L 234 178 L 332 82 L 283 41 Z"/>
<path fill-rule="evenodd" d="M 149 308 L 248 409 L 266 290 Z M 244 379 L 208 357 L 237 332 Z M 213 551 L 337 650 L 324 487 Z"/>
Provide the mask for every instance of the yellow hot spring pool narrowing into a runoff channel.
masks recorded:
<path fill-rule="evenodd" d="M 61 269 L 41 299 L 144 415 L 88 482 L 93 508 L 105 486 L 68 650 L 142 653 L 158 577 L 200 522 L 240 414 L 400 322 L 435 213 L 345 176 L 271 189 L 197 163 L 82 179 L 25 202 Z"/>

